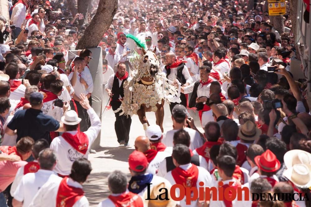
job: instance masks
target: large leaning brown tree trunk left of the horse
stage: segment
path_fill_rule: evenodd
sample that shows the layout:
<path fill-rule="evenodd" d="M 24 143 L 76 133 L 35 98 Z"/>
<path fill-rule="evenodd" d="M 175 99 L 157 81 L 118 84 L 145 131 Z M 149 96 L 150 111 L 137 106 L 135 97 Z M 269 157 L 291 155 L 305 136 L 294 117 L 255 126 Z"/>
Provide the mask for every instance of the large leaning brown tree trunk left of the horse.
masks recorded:
<path fill-rule="evenodd" d="M 79 2 L 79 1 L 78 1 Z M 86 27 L 76 50 L 97 47 L 103 34 L 112 23 L 118 8 L 118 0 L 100 0 L 95 16 Z"/>

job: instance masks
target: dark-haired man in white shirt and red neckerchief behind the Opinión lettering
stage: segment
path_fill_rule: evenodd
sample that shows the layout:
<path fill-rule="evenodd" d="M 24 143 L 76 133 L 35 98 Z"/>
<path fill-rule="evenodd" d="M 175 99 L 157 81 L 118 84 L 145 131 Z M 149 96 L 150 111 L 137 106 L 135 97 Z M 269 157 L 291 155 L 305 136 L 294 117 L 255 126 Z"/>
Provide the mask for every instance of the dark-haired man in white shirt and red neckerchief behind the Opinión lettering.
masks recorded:
<path fill-rule="evenodd" d="M 169 171 L 165 178 L 172 184 L 180 184 L 186 187 L 194 187 L 199 189 L 199 183 L 203 182 L 204 187 L 212 186 L 212 179 L 210 173 L 202 168 L 197 167 L 190 163 L 191 153 L 189 148 L 182 144 L 177 144 L 173 147 L 173 163 L 176 166 L 175 169 Z M 179 197 L 180 189 L 176 188 L 175 194 Z M 186 199 L 188 198 L 188 199 Z M 200 204 L 199 204 L 200 203 Z M 204 201 L 190 200 L 188 196 L 185 196 L 180 201 L 180 206 L 201 206 Z"/>

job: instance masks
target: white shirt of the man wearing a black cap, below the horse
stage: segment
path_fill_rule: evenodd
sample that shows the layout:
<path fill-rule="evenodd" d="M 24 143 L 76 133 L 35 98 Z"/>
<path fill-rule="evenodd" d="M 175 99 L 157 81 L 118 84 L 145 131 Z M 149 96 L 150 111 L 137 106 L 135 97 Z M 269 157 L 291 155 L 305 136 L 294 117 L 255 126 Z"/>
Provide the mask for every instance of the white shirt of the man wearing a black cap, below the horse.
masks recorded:
<path fill-rule="evenodd" d="M 193 129 L 188 128 L 188 127 L 183 128 L 183 130 L 188 132 L 188 134 L 190 136 L 189 149 L 195 150 L 196 148 L 199 148 L 200 146 L 202 146 L 204 144 L 202 137 L 200 137 L 200 134 L 196 130 L 193 130 Z M 174 146 L 173 136 L 174 136 L 174 133 L 177 131 L 178 131 L 177 129 L 173 129 L 173 130 L 170 130 L 170 131 L 163 133 L 162 143 L 165 144 L 167 147 L 168 146 Z"/>

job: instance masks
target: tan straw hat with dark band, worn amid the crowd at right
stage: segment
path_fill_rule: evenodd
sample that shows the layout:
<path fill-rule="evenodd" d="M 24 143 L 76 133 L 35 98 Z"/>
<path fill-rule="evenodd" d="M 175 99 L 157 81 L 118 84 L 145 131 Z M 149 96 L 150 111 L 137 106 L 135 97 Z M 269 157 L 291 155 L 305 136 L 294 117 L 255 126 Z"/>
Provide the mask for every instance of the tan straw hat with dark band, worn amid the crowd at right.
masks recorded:
<path fill-rule="evenodd" d="M 251 121 L 247 121 L 243 125 L 239 126 L 238 136 L 241 139 L 253 141 L 259 138 L 261 134 L 261 129 L 258 129 L 256 125 Z"/>

